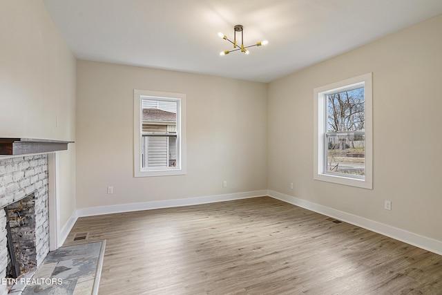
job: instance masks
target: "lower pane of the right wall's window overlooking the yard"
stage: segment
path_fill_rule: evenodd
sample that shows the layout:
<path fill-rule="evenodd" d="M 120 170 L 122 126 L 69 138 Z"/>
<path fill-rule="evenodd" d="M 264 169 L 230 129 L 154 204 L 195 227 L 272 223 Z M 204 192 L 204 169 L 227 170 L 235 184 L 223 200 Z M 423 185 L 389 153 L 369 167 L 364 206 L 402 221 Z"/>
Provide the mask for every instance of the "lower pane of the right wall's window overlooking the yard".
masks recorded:
<path fill-rule="evenodd" d="M 327 134 L 327 172 L 365 175 L 365 135 Z"/>

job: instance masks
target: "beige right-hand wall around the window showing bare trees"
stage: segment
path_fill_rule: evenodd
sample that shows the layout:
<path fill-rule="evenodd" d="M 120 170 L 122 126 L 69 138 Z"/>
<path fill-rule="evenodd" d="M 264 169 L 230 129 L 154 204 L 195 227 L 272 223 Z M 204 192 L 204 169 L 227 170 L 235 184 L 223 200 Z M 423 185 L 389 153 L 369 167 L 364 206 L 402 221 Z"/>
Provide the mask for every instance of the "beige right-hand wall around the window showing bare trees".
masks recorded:
<path fill-rule="evenodd" d="M 269 84 L 269 189 L 442 240 L 441 30 L 439 16 Z M 313 89 L 369 72 L 374 189 L 313 180 Z"/>

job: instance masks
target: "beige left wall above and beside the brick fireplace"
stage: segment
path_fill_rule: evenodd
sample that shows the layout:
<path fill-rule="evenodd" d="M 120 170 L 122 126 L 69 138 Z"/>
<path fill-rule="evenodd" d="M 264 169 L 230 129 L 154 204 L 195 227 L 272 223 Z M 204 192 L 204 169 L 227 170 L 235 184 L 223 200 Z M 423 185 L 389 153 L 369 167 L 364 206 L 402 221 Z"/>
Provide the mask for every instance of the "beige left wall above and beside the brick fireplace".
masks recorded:
<path fill-rule="evenodd" d="M 0 44 L 0 137 L 75 140 L 75 57 L 43 1 L 1 1 Z M 75 144 L 59 153 L 63 227 L 75 212 Z"/>

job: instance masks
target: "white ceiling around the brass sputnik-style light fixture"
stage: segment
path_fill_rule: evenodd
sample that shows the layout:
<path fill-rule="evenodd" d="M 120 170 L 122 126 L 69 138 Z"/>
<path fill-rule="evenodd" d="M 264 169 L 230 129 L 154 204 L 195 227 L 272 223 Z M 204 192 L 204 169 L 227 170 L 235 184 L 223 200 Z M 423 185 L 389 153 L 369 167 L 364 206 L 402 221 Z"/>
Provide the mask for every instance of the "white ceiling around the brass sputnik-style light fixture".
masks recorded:
<path fill-rule="evenodd" d="M 442 14 L 442 0 L 44 0 L 77 59 L 271 82 Z M 233 39 L 234 52 L 218 37 Z M 238 38 L 237 38 L 238 39 Z"/>

